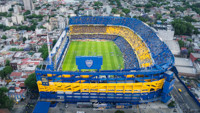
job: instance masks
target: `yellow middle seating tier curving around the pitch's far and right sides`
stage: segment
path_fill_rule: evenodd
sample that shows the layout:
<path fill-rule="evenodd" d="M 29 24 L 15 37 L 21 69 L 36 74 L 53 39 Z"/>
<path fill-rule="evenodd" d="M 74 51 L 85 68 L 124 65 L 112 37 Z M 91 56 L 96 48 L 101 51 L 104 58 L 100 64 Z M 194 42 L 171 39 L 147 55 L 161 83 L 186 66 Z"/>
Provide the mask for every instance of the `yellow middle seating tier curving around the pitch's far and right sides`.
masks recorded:
<path fill-rule="evenodd" d="M 70 34 L 71 35 L 79 35 L 79 34 L 107 34 L 107 35 L 118 35 L 123 37 L 134 49 L 134 52 L 138 58 L 140 67 L 149 67 L 153 64 L 153 61 L 151 59 L 151 54 L 148 49 L 148 47 L 145 45 L 145 43 L 142 41 L 141 38 L 139 38 L 131 29 L 122 27 L 122 26 L 104 26 L 106 29 L 106 32 L 90 32 L 90 29 L 92 27 L 94 29 L 97 29 L 95 26 L 89 26 L 88 30 L 83 30 L 83 32 L 80 32 L 80 27 L 78 25 L 72 25 L 70 26 Z M 78 29 L 78 30 L 77 30 Z M 84 29 L 87 29 L 87 26 L 84 26 Z M 102 26 L 101 26 L 102 29 Z"/>

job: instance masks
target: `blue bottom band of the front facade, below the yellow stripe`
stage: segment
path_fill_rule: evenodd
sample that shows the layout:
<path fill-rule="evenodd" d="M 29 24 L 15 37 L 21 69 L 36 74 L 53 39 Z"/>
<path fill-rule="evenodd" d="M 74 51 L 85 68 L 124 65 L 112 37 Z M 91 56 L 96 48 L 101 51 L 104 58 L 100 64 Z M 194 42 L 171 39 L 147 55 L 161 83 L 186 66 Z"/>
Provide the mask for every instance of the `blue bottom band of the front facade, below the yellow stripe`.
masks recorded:
<path fill-rule="evenodd" d="M 167 97 L 165 95 L 165 97 Z M 168 95 L 169 99 L 170 96 Z M 162 100 L 162 90 L 150 93 L 80 93 L 80 92 L 40 92 L 42 101 L 60 102 L 112 102 L 112 103 L 147 103 Z"/>

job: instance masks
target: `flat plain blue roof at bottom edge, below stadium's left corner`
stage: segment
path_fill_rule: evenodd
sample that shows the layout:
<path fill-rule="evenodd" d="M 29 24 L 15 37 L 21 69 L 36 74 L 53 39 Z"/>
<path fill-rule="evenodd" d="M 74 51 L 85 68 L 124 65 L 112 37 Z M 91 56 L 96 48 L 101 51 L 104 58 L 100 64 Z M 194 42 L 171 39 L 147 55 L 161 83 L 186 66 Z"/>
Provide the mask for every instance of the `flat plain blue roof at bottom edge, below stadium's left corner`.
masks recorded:
<path fill-rule="evenodd" d="M 38 102 L 33 113 L 48 113 L 50 102 Z"/>

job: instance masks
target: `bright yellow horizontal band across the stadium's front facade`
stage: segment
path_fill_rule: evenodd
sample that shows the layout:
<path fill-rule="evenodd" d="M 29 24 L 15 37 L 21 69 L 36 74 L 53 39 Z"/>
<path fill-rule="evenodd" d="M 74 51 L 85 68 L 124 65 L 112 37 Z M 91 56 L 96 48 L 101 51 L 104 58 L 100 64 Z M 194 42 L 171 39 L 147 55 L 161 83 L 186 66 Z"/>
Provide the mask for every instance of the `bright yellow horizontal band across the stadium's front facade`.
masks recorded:
<path fill-rule="evenodd" d="M 162 89 L 164 79 L 144 83 L 62 83 L 49 82 L 49 86 L 43 86 L 38 81 L 40 92 L 104 92 L 104 93 L 149 93 Z"/>

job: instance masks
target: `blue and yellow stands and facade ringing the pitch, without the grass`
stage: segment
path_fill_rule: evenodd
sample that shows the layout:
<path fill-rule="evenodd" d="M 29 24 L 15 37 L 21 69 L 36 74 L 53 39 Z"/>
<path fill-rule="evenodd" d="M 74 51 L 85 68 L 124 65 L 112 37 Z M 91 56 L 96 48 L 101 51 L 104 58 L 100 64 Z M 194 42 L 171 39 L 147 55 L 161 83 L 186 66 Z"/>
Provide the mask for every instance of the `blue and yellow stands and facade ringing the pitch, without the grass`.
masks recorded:
<path fill-rule="evenodd" d="M 174 56 L 149 26 L 134 18 L 83 16 L 70 18 L 65 30 L 53 48 L 56 71 L 35 72 L 41 101 L 141 104 L 170 100 Z M 87 38 L 113 40 L 124 55 L 126 69 L 58 71 L 70 41 Z"/>

